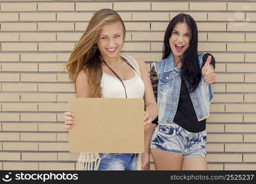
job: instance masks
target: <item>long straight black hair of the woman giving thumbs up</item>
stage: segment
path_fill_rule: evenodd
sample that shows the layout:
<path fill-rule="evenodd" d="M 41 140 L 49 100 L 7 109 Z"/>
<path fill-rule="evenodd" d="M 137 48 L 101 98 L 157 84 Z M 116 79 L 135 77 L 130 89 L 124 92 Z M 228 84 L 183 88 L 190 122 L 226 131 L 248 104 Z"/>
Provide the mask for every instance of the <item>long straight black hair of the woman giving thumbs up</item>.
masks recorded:
<path fill-rule="evenodd" d="M 191 37 L 190 37 L 190 45 L 184 53 L 182 58 L 182 67 L 181 67 L 181 77 L 185 80 L 187 84 L 188 91 L 192 93 L 197 88 L 200 79 L 201 79 L 201 69 L 198 64 L 198 30 L 196 26 L 195 20 L 184 13 L 180 13 L 174 17 L 166 31 L 165 31 L 165 39 L 164 39 L 164 46 L 163 46 L 163 59 L 167 58 L 171 53 L 171 46 L 169 45 L 169 38 L 173 33 L 174 26 L 177 23 L 186 23 L 188 28 L 190 28 Z"/>

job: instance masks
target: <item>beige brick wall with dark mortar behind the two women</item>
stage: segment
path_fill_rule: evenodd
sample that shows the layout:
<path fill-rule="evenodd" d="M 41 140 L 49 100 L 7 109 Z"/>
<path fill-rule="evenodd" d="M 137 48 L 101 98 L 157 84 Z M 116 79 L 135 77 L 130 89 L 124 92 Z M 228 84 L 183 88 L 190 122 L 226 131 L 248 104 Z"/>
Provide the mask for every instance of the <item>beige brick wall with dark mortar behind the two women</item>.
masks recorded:
<path fill-rule="evenodd" d="M 75 170 L 63 112 L 74 85 L 62 72 L 96 10 L 126 25 L 123 53 L 161 59 L 169 20 L 195 18 L 200 52 L 214 55 L 215 100 L 208 118 L 211 170 L 256 169 L 255 1 L 0 1 L 0 169 Z M 152 169 L 153 159 L 151 161 Z"/>

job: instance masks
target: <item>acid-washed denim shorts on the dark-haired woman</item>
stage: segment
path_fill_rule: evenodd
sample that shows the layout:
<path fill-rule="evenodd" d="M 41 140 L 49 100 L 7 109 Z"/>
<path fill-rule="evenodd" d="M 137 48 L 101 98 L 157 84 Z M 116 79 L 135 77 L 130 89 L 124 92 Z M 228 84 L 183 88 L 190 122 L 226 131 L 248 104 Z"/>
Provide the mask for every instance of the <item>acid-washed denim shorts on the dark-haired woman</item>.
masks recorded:
<path fill-rule="evenodd" d="M 184 158 L 195 156 L 205 157 L 206 130 L 193 133 L 174 122 L 170 126 L 158 125 L 153 132 L 150 148 L 179 153 Z"/>

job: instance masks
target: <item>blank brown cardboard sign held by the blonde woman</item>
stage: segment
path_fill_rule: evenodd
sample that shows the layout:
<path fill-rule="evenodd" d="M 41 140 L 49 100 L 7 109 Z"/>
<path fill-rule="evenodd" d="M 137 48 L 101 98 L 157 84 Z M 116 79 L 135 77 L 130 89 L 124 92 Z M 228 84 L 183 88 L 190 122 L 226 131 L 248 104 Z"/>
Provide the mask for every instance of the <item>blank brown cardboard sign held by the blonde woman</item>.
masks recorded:
<path fill-rule="evenodd" d="M 144 100 L 75 98 L 76 124 L 69 129 L 70 152 L 142 153 Z"/>

